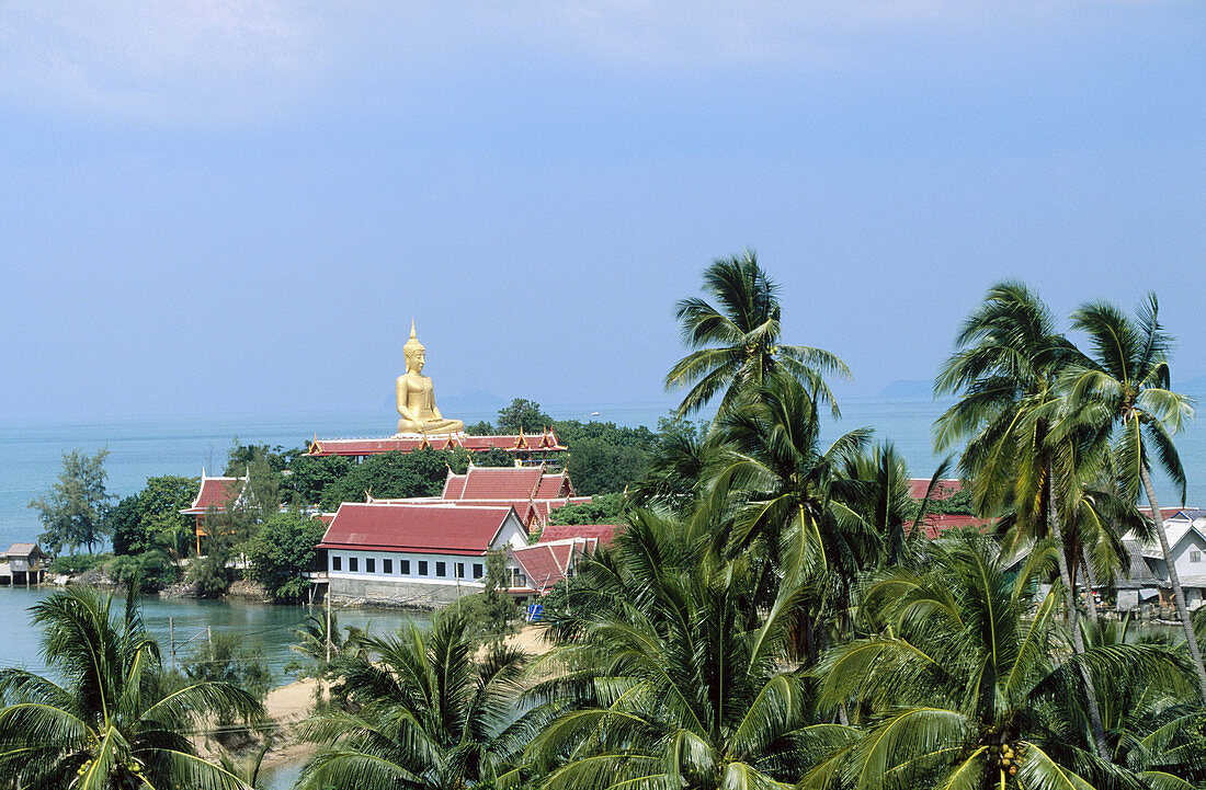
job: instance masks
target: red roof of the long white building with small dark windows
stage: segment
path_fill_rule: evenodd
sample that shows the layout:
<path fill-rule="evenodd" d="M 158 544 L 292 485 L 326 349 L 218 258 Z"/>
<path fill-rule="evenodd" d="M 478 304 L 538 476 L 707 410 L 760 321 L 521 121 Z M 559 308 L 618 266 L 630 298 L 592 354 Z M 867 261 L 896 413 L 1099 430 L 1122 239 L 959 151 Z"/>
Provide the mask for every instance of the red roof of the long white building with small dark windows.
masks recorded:
<path fill-rule="evenodd" d="M 318 548 L 484 555 L 511 513 L 510 507 L 345 502 Z"/>

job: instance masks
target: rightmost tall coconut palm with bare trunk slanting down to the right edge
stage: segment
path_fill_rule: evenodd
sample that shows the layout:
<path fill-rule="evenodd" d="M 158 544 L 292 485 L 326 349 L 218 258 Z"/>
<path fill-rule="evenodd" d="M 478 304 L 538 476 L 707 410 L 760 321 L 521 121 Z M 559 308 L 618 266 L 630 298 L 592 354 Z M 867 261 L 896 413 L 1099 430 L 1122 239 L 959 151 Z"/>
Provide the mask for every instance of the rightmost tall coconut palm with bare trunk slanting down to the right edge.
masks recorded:
<path fill-rule="evenodd" d="M 1155 537 L 1160 542 L 1172 598 L 1185 632 L 1201 694 L 1206 697 L 1206 666 L 1194 636 L 1185 595 L 1181 589 L 1172 549 L 1164 532 L 1164 516 L 1152 485 L 1152 456 L 1185 499 L 1185 470 L 1172 435 L 1194 415 L 1193 400 L 1170 390 L 1169 351 L 1172 338 L 1159 321 L 1155 294 L 1140 305 L 1132 321 L 1117 306 L 1094 302 L 1072 314 L 1072 326 L 1089 335 L 1093 358 L 1081 359 L 1069 373 L 1071 400 L 1085 420 L 1117 432 L 1116 457 L 1119 476 L 1130 499 L 1140 491 L 1152 505 Z"/>

